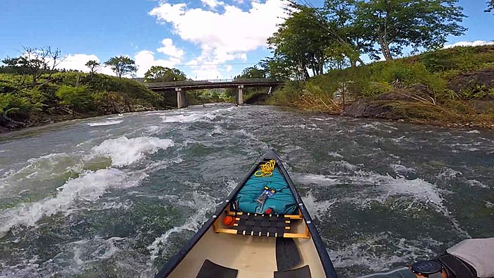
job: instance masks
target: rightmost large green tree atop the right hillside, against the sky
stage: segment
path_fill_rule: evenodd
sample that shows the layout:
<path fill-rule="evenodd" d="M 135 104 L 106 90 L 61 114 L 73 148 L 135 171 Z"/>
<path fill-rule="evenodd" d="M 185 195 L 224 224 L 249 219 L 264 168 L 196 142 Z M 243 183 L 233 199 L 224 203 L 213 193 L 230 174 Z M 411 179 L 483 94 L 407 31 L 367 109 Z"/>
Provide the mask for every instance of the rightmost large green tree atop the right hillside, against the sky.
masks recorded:
<path fill-rule="evenodd" d="M 448 35 L 462 35 L 465 17 L 458 0 L 366 0 L 359 1 L 356 26 L 366 40 L 378 44 L 387 61 L 402 54 L 403 47 L 438 49 Z M 376 55 L 373 55 L 377 58 Z"/>

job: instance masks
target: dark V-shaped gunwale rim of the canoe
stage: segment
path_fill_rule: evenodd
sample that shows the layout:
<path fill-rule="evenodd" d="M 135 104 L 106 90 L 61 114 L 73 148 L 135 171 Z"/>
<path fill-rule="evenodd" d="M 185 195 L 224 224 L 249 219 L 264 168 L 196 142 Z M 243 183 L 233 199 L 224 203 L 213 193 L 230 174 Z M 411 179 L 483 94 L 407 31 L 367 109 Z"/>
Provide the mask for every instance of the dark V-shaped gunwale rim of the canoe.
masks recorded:
<path fill-rule="evenodd" d="M 325 247 L 325 244 L 323 243 L 323 240 L 320 238 L 320 235 L 313 224 L 311 215 L 308 213 L 306 210 L 306 206 L 304 205 L 302 199 L 300 198 L 299 193 L 296 191 L 295 186 L 293 181 L 291 181 L 291 178 L 287 172 L 286 169 L 284 169 L 284 166 L 282 164 L 282 160 L 278 157 L 278 155 L 272 151 L 268 150 L 265 155 L 260 157 L 257 162 L 254 163 L 253 167 L 248 171 L 248 173 L 243 176 L 243 179 L 239 181 L 239 183 L 236 185 L 236 187 L 231 191 L 231 193 L 228 195 L 227 199 L 224 200 L 222 205 L 219 205 L 217 209 L 215 210 L 215 214 L 210 219 L 207 219 L 207 221 L 203 224 L 203 226 L 200 227 L 200 229 L 195 233 L 195 235 L 187 241 L 187 243 L 179 250 L 176 255 L 171 257 L 171 259 L 167 262 L 166 265 L 162 267 L 161 270 L 155 275 L 155 278 L 164 278 L 168 277 L 171 272 L 175 270 L 175 268 L 180 264 L 180 262 L 183 260 L 183 258 L 186 257 L 186 255 L 192 250 L 192 248 L 195 246 L 198 241 L 200 241 L 200 238 L 204 236 L 204 234 L 211 228 L 211 226 L 215 223 L 217 220 L 217 217 L 220 216 L 220 214 L 227 209 L 227 206 L 230 204 L 231 200 L 235 197 L 236 193 L 240 191 L 240 189 L 243 187 L 244 183 L 248 181 L 248 179 L 251 178 L 251 176 L 257 171 L 259 165 L 261 163 L 264 163 L 266 160 L 270 159 L 275 159 L 277 166 L 279 167 L 279 170 L 281 171 L 282 175 L 284 176 L 284 179 L 286 179 L 288 186 L 290 188 L 291 193 L 294 195 L 294 198 L 296 200 L 296 203 L 299 205 L 299 211 L 301 212 L 303 216 L 303 221 L 306 222 L 306 227 L 308 229 L 308 232 L 311 234 L 311 238 L 313 240 L 315 249 L 318 252 L 320 262 L 323 265 L 324 272 L 326 274 L 327 278 L 337 278 L 337 274 L 335 271 L 335 267 L 332 265 L 332 261 L 330 259 L 330 256 L 327 254 L 327 250 Z"/>

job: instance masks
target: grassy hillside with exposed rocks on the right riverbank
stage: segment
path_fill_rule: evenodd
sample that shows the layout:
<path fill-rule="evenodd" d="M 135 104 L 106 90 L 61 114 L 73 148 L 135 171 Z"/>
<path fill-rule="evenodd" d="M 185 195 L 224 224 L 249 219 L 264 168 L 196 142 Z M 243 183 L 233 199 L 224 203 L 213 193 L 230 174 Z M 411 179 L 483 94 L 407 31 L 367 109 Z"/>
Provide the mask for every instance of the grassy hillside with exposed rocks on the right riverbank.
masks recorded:
<path fill-rule="evenodd" d="M 455 47 L 291 82 L 271 104 L 333 114 L 494 127 L 494 46 Z"/>

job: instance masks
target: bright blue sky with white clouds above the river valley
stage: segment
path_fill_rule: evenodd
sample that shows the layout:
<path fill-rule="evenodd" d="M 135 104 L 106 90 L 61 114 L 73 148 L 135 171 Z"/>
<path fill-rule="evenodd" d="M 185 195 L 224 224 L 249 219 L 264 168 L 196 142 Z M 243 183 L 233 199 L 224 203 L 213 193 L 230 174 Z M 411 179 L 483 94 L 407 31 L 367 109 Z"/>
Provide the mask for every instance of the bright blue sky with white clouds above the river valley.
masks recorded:
<path fill-rule="evenodd" d="M 469 30 L 448 44 L 494 40 L 486 1 L 459 4 Z M 51 45 L 68 55 L 66 68 L 85 70 L 89 59 L 128 55 L 138 75 L 162 65 L 191 78 L 230 78 L 269 55 L 265 39 L 283 14 L 282 0 L 1 0 L 0 57 Z"/>

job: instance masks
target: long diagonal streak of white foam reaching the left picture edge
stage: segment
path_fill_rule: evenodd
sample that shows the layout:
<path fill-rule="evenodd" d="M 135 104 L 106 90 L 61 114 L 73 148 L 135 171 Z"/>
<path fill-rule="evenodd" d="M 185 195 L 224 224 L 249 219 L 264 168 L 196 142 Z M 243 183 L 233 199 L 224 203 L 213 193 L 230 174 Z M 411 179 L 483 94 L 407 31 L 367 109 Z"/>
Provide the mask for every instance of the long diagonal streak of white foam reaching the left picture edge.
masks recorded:
<path fill-rule="evenodd" d="M 0 238 L 14 227 L 35 226 L 42 217 L 66 212 L 76 200 L 95 201 L 109 188 L 126 188 L 137 185 L 144 176 L 128 177 L 119 169 L 88 171 L 77 179 L 69 179 L 54 198 L 35 203 L 23 203 L 0 212 Z"/>

